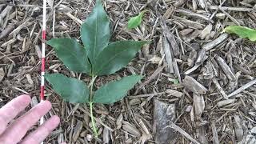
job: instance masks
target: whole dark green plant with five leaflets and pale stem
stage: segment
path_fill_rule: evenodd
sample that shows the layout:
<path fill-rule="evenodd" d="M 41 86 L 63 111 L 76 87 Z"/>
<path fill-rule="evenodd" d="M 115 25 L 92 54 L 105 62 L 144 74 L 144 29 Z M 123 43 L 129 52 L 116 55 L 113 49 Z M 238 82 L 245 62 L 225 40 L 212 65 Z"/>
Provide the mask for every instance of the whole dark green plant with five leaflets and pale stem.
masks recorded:
<path fill-rule="evenodd" d="M 92 14 L 82 24 L 81 39 L 84 46 L 76 39 L 52 38 L 47 42 L 54 47 L 59 59 L 73 70 L 89 74 L 89 86 L 76 78 L 68 78 L 63 74 L 46 74 L 45 78 L 53 89 L 66 101 L 72 103 L 88 103 L 94 135 L 97 128 L 94 123 L 94 103 L 110 104 L 122 99 L 128 90 L 142 79 L 140 75 L 131 75 L 118 81 L 109 82 L 94 90 L 94 81 L 98 76 L 114 74 L 126 66 L 146 42 L 110 40 L 110 21 L 97 0 Z"/>

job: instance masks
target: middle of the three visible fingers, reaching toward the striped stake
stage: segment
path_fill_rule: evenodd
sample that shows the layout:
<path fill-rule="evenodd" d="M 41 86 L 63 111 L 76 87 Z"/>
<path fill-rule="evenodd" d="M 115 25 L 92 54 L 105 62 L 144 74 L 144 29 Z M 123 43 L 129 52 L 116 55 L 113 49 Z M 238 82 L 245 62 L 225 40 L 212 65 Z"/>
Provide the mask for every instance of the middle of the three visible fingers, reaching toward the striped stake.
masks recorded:
<path fill-rule="evenodd" d="M 0 136 L 0 142 L 3 143 L 18 143 L 30 129 L 34 123 L 45 115 L 51 108 L 48 101 L 40 102 L 34 106 L 29 112 L 18 118 L 14 123 L 8 126 L 8 129 Z"/>

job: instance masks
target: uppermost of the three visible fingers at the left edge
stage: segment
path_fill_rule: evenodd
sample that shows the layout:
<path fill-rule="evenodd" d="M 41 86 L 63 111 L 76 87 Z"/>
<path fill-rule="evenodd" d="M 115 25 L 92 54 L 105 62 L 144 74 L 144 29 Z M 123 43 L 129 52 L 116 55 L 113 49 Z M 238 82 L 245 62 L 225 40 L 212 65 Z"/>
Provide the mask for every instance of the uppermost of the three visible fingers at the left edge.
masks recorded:
<path fill-rule="evenodd" d="M 30 104 L 30 101 L 31 98 L 29 95 L 21 95 L 0 109 L 0 135 L 6 130 L 8 123 Z"/>

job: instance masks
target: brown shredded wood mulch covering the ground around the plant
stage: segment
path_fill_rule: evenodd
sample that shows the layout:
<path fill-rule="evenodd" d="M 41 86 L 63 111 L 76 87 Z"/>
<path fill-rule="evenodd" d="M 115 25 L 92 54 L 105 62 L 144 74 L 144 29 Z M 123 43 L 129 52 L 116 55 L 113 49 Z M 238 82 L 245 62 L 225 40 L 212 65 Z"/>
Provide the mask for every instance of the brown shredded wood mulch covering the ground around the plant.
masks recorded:
<path fill-rule="evenodd" d="M 79 39 L 80 26 L 94 1 L 47 2 L 47 39 Z M 111 41 L 151 43 L 125 69 L 98 78 L 96 86 L 124 75 L 145 77 L 122 101 L 95 106 L 98 138 L 92 135 L 88 106 L 63 102 L 47 85 L 46 98 L 53 109 L 46 118 L 58 114 L 62 122 L 46 142 L 157 143 L 161 130 L 154 109 L 159 102 L 173 114 L 164 127 L 173 131 L 166 133 L 173 136 L 162 143 L 256 142 L 256 45 L 222 33 L 230 25 L 256 29 L 254 0 L 120 0 L 103 4 L 111 20 Z M 149 10 L 142 25 L 127 30 L 129 18 L 142 10 Z M 42 1 L 4 1 L 0 11 L 0 106 L 18 94 L 30 94 L 36 101 Z M 47 73 L 90 81 L 89 76 L 63 66 L 50 46 L 46 48 L 46 69 Z"/>

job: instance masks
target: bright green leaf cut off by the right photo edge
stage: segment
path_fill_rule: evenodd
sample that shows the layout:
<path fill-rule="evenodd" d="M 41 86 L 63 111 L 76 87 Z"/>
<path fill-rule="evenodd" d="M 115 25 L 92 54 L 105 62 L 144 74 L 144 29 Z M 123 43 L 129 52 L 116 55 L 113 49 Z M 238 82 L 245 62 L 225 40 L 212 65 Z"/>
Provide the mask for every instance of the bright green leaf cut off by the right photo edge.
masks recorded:
<path fill-rule="evenodd" d="M 256 41 L 256 30 L 246 26 L 227 26 L 224 31 L 229 34 L 238 34 L 240 38 L 249 38 L 250 41 Z"/>

